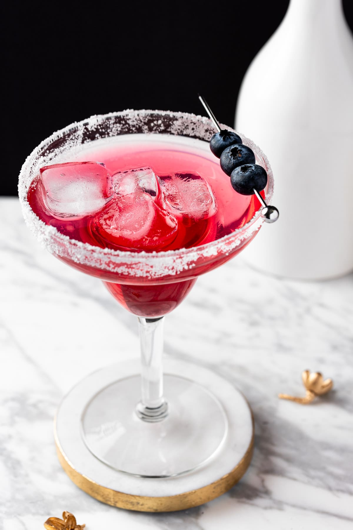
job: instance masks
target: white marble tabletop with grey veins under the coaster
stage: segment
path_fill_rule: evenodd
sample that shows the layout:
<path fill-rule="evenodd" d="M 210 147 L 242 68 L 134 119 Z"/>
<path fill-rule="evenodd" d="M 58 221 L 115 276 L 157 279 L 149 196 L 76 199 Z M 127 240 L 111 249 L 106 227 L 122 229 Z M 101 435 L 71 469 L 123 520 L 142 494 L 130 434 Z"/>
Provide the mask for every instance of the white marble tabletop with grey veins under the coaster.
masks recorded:
<path fill-rule="evenodd" d="M 166 356 L 194 359 L 246 394 L 254 458 L 241 482 L 207 505 L 131 513 L 70 482 L 52 418 L 80 378 L 137 354 L 135 317 L 98 280 L 42 250 L 15 198 L 0 199 L 0 223 L 2 530 L 37 530 L 64 509 L 87 530 L 352 528 L 353 275 L 278 280 L 238 257 L 198 279 L 166 319 Z M 334 390 L 307 407 L 279 400 L 278 392 L 303 393 L 306 368 L 332 377 Z"/>

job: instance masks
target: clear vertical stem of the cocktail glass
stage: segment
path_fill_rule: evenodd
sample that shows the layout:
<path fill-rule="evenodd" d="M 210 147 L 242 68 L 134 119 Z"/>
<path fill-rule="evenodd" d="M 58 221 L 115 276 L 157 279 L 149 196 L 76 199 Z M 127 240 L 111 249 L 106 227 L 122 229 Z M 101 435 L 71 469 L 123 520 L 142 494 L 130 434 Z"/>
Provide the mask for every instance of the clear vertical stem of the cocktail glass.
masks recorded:
<path fill-rule="evenodd" d="M 136 412 L 143 421 L 161 421 L 168 415 L 163 397 L 163 324 L 158 319 L 138 317 L 141 343 L 141 401 Z"/>

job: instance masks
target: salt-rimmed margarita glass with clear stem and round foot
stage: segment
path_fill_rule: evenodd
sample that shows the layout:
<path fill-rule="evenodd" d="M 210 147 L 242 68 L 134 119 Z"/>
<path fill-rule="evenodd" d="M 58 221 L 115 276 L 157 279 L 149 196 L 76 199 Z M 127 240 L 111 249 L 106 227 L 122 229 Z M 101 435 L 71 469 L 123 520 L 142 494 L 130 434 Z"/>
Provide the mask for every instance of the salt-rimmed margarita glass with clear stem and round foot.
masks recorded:
<path fill-rule="evenodd" d="M 103 280 L 115 299 L 138 316 L 141 374 L 123 368 L 119 372 L 118 367 L 114 382 L 97 376 L 95 390 L 77 419 L 88 451 L 117 472 L 146 478 L 183 475 L 210 462 L 227 440 L 229 420 L 224 406 L 209 388 L 193 381 L 192 370 L 185 376 L 184 367 L 184 375 L 180 369 L 163 377 L 162 326 L 164 315 L 183 300 L 199 275 L 219 267 L 252 240 L 263 223 L 261 206 L 255 196 L 248 196 L 244 199 L 248 201 L 247 215 L 239 227 L 204 244 L 131 252 L 78 241 L 44 222 L 28 200 L 31 184 L 43 166 L 92 160 L 89 153 L 97 142 L 119 145 L 133 135 L 160 138 L 166 148 L 174 145 L 179 152 L 196 149 L 211 167 L 219 164 L 209 150 L 213 133 L 209 119 L 193 114 L 129 110 L 95 116 L 44 140 L 20 174 L 23 215 L 35 237 L 71 267 Z M 273 175 L 267 158 L 249 139 L 242 140 L 267 171 L 263 195 L 270 201 Z M 222 178 L 229 180 L 226 175 Z M 230 184 L 229 196 L 234 201 L 238 196 Z M 220 199 L 216 193 L 215 198 Z"/>

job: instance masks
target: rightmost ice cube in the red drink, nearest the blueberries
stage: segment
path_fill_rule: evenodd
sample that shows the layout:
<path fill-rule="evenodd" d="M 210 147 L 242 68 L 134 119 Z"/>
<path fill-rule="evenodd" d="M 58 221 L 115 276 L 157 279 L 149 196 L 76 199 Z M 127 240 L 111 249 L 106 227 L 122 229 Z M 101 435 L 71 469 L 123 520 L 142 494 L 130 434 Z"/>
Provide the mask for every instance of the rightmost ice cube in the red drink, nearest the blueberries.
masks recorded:
<path fill-rule="evenodd" d="M 173 173 L 162 178 L 166 210 L 194 220 L 207 219 L 217 211 L 209 184 L 198 173 Z"/>

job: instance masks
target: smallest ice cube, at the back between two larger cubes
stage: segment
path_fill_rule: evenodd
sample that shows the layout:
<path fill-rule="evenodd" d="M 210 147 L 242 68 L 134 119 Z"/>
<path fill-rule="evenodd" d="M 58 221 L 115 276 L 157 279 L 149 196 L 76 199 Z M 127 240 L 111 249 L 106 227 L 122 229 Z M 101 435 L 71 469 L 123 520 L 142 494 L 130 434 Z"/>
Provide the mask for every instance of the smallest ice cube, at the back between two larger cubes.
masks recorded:
<path fill-rule="evenodd" d="M 118 195 L 145 192 L 151 197 L 158 197 L 160 193 L 160 181 L 151 167 L 139 167 L 127 171 L 114 173 L 112 176 L 114 191 Z"/>

